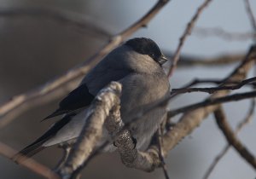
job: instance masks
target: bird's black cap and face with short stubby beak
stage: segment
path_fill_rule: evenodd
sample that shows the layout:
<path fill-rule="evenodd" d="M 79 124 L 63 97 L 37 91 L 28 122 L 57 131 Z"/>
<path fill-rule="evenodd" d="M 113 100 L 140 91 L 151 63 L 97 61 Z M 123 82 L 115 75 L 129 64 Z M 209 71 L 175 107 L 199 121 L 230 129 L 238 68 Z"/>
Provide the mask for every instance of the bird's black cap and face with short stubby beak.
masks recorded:
<path fill-rule="evenodd" d="M 142 55 L 149 55 L 154 61 L 163 65 L 168 59 L 160 51 L 160 48 L 150 38 L 132 38 L 128 40 L 125 45 L 130 46 L 137 53 Z"/>

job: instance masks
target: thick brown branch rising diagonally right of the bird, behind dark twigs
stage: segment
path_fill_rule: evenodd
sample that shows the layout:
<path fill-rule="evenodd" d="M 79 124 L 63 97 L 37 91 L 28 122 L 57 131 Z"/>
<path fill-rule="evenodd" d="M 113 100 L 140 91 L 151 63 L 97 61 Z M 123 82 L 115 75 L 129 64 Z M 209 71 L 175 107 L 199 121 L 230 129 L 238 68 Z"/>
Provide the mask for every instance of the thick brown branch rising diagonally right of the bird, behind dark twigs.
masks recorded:
<path fill-rule="evenodd" d="M 224 84 L 230 83 L 230 81 L 241 81 L 243 80 L 249 69 L 253 66 L 256 61 L 256 47 L 253 46 L 244 61 L 241 62 L 241 65 L 236 67 L 234 72 L 230 74 L 224 80 Z M 221 97 L 227 95 L 229 93 L 228 90 L 218 91 L 211 98 Z M 177 122 L 177 124 L 166 132 L 163 136 L 163 152 L 164 155 L 168 153 L 168 151 L 172 150 L 173 147 L 177 145 L 179 141 L 183 139 L 183 137 L 189 135 L 195 128 L 201 124 L 203 119 L 207 118 L 207 116 L 214 112 L 218 108 L 218 105 L 209 106 L 209 107 L 201 107 L 194 111 L 190 111 L 189 113 L 184 113 L 183 117 Z"/>

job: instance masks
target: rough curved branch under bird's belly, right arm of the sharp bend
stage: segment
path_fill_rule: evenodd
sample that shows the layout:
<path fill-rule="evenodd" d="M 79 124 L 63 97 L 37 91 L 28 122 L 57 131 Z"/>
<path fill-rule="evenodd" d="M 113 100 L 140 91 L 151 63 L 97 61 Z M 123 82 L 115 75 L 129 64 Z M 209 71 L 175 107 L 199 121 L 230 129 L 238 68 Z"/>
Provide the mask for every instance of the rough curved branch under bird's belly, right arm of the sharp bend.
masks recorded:
<path fill-rule="evenodd" d="M 139 170 L 154 170 L 160 164 L 158 150 L 155 148 L 146 153 L 137 150 L 130 131 L 123 129 L 124 126 L 120 118 L 119 107 L 115 107 L 106 121 L 106 128 L 113 137 L 114 145 L 118 148 L 123 164 Z"/>

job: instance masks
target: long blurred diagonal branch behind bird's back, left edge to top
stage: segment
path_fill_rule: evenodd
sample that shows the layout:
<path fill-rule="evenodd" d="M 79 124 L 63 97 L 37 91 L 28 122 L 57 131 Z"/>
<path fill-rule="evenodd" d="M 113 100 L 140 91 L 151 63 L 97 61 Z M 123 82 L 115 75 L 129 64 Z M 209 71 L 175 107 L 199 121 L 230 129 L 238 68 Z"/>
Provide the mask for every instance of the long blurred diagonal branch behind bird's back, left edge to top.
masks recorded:
<path fill-rule="evenodd" d="M 60 95 L 63 95 L 63 89 L 71 90 L 70 82 L 73 82 L 77 78 L 84 76 L 92 66 L 95 66 L 104 55 L 107 55 L 112 49 L 117 47 L 126 38 L 128 38 L 137 29 L 145 26 L 149 20 L 152 20 L 155 14 L 162 9 L 169 0 L 159 0 L 147 14 L 140 20 L 134 23 L 132 26 L 120 32 L 118 35 L 111 38 L 110 42 L 106 44 L 95 55 L 90 57 L 87 61 L 84 61 L 80 66 L 74 67 L 68 72 L 64 73 L 61 77 L 55 78 L 48 83 L 26 92 L 25 94 L 17 95 L 12 100 L 6 102 L 0 107 L 0 128 L 8 124 L 13 118 L 16 118 L 26 110 L 42 105 L 43 103 L 53 101 Z"/>

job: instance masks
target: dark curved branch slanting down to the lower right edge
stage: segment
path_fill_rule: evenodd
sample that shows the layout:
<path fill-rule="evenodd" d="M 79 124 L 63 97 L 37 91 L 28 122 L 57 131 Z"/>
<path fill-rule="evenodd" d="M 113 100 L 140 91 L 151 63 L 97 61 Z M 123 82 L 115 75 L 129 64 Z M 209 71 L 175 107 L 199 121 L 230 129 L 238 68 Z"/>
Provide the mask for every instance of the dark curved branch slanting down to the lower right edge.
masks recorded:
<path fill-rule="evenodd" d="M 218 110 L 214 112 L 216 122 L 218 127 L 224 133 L 226 140 L 236 148 L 236 151 L 241 155 L 241 157 L 247 160 L 247 163 L 250 164 L 254 169 L 256 169 L 256 159 L 253 154 L 250 153 L 246 147 L 241 144 L 241 141 L 238 140 L 236 134 L 232 131 L 226 117 L 224 114 L 223 108 L 219 107 Z"/>

